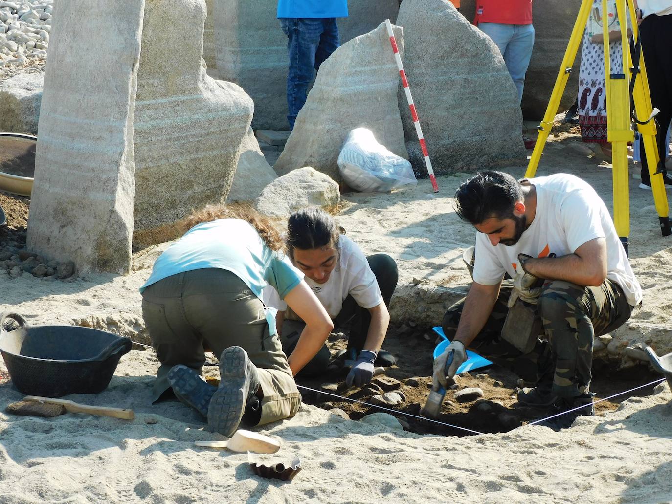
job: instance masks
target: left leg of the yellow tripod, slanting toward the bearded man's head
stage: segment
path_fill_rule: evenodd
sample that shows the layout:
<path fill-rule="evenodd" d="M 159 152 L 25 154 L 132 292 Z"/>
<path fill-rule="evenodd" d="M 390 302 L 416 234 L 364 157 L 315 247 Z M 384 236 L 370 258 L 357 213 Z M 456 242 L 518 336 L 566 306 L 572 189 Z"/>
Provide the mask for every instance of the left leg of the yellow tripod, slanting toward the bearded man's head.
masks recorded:
<path fill-rule="evenodd" d="M 574 64 L 574 60 L 577 57 L 577 51 L 579 50 L 579 45 L 581 45 L 581 38 L 583 37 L 583 30 L 585 30 L 586 24 L 588 22 L 588 15 L 592 6 L 593 0 L 583 0 L 581 3 L 581 9 L 579 9 L 577 21 L 574 24 L 574 29 L 572 30 L 569 43 L 567 44 L 567 49 L 564 52 L 564 58 L 562 58 L 560 71 L 558 71 L 558 77 L 556 78 L 555 85 L 553 86 L 553 92 L 551 93 L 550 100 L 548 101 L 548 107 L 546 108 L 546 114 L 544 114 L 544 120 L 542 120 L 540 126 L 538 127 L 539 135 L 537 136 L 537 141 L 534 144 L 534 151 L 532 151 L 530 163 L 528 163 L 528 170 L 525 172 L 525 176 L 528 178 L 534 177 L 534 174 L 537 171 L 539 161 L 542 157 L 542 152 L 544 151 L 544 145 L 546 145 L 546 139 L 548 139 L 550 130 L 553 127 L 555 114 L 558 113 L 558 108 L 560 107 L 562 93 L 564 93 L 564 88 L 567 85 L 569 74 L 572 71 L 572 65 Z"/>

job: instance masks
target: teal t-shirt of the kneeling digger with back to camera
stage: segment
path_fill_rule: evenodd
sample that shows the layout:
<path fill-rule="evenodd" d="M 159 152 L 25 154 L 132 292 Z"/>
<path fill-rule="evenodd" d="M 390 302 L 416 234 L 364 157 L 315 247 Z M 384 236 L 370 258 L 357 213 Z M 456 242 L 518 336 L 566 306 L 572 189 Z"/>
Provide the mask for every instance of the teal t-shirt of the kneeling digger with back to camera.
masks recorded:
<path fill-rule="evenodd" d="M 169 276 L 205 268 L 231 271 L 259 299 L 267 284 L 284 298 L 303 280 L 303 274 L 288 257 L 269 249 L 257 230 L 245 220 L 219 219 L 194 226 L 159 255 L 140 293 Z M 275 310 L 266 310 L 266 321 L 274 335 Z"/>

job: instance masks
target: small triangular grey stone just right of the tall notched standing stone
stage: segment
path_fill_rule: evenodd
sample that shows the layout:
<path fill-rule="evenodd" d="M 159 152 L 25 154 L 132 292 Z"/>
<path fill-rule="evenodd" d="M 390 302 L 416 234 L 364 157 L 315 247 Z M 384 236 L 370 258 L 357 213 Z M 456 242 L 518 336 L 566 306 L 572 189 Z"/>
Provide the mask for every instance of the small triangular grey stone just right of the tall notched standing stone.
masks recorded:
<path fill-rule="evenodd" d="M 261 190 L 277 178 L 278 175 L 263 157 L 252 128 L 249 128 L 241 144 L 241 157 L 226 202 L 254 201 Z"/>

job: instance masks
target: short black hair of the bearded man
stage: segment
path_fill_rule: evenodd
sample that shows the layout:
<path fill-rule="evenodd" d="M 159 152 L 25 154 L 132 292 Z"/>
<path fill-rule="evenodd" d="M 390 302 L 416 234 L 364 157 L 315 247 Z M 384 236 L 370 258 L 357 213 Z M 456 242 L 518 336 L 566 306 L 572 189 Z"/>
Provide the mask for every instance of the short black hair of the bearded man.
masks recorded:
<path fill-rule="evenodd" d="M 455 192 L 455 212 L 472 225 L 485 219 L 513 216 L 516 202 L 523 200 L 520 183 L 508 173 L 481 171 Z"/>

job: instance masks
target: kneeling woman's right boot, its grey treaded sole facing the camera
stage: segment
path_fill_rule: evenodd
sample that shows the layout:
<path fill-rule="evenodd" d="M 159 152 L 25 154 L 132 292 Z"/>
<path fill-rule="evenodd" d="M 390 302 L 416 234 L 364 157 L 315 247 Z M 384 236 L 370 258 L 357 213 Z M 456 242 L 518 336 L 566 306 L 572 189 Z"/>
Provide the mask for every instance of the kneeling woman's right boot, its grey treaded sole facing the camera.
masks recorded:
<path fill-rule="evenodd" d="M 257 368 L 241 347 L 228 347 L 219 359 L 219 387 L 208 407 L 208 425 L 231 437 L 243 419 L 247 403 L 259 389 Z"/>

